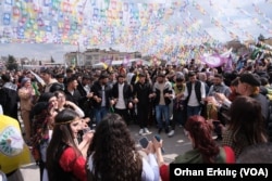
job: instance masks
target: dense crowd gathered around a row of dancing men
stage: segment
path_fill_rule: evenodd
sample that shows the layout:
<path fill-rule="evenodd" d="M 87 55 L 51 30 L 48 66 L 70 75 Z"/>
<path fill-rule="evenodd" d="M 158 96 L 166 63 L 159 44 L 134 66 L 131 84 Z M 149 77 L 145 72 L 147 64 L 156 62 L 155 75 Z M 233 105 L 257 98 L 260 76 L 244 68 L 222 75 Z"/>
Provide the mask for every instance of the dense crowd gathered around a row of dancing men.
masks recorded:
<path fill-rule="evenodd" d="M 243 61 L 232 72 L 195 60 L 181 66 L 45 67 L 35 72 L 41 79 L 30 70 L 7 70 L 0 104 L 4 115 L 22 117 L 42 181 L 169 180 L 162 141 L 149 142 L 143 158 L 131 124 L 140 135 L 156 127 L 170 138 L 182 127 L 193 148 L 174 163 L 235 163 L 247 147 L 271 142 L 272 62 Z M 272 161 L 265 158 L 258 161 Z"/>

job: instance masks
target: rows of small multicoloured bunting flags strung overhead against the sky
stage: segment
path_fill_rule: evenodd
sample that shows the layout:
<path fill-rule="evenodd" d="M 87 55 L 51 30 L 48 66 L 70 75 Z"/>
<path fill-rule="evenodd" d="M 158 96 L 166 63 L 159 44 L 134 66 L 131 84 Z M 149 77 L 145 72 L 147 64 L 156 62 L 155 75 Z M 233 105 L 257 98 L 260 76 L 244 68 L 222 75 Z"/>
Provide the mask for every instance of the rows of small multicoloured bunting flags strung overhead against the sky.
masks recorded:
<path fill-rule="evenodd" d="M 272 21 L 259 4 L 251 3 L 254 11 L 249 13 L 235 0 L 224 3 L 251 20 L 267 34 L 272 34 L 269 28 Z M 269 1 L 263 3 L 271 5 Z M 120 44 L 127 50 L 178 62 L 180 57 L 187 60 L 201 54 L 200 50 L 186 52 L 182 49 L 184 44 L 219 44 L 213 34 L 205 29 L 199 15 L 209 18 L 208 23 L 218 27 L 224 36 L 242 42 L 254 39 L 254 35 L 235 21 L 238 21 L 238 16 L 235 20 L 221 18 L 213 15 L 211 10 L 228 17 L 226 10 L 215 0 L 209 0 L 208 7 L 197 0 L 164 3 L 128 0 L 1 0 L 0 43 L 76 46 L 79 42 L 86 48 Z M 265 49 L 270 51 L 271 47 L 267 46 Z"/>

